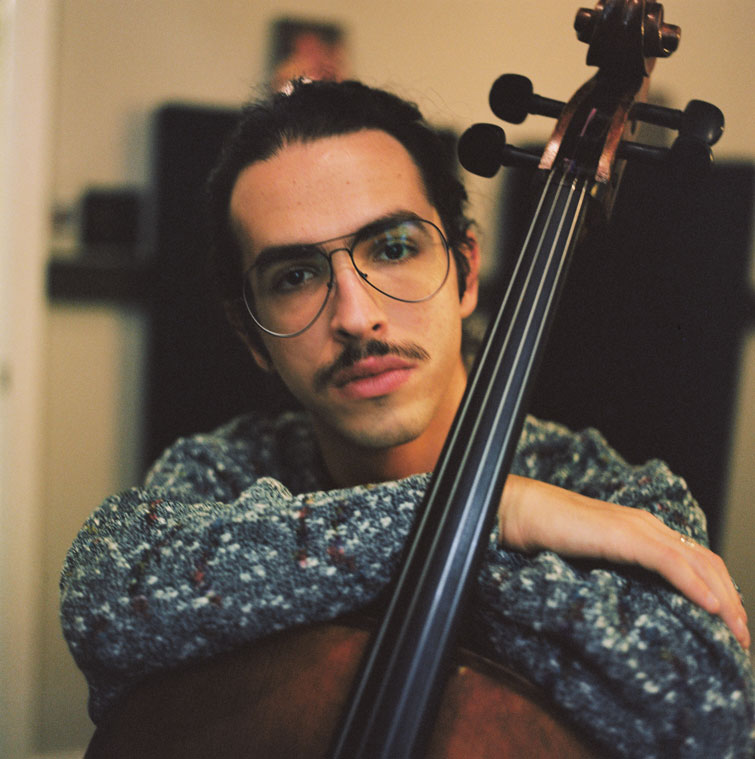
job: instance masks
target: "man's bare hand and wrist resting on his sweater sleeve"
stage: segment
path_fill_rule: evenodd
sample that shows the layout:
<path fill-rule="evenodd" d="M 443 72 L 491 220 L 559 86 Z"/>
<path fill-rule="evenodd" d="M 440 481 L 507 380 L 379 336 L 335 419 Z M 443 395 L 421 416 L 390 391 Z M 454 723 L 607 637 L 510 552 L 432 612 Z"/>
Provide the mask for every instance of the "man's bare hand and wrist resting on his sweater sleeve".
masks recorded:
<path fill-rule="evenodd" d="M 510 475 L 498 509 L 502 545 L 574 558 L 639 564 L 718 614 L 745 648 L 747 614 L 723 560 L 641 509 Z"/>

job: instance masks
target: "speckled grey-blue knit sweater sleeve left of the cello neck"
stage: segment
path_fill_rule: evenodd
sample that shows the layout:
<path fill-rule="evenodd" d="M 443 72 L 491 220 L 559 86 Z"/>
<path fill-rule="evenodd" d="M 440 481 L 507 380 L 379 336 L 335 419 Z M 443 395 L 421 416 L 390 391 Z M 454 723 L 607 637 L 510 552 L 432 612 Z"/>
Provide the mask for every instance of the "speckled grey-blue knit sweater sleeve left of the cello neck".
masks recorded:
<path fill-rule="evenodd" d="M 183 474 L 204 476 L 172 483 L 171 457 Z M 151 487 L 108 498 L 68 553 L 61 619 L 95 723 L 151 672 L 372 601 L 427 482 L 294 496 L 262 477 L 220 501 L 208 495 L 230 492 L 239 475 L 226 456 L 213 458 L 209 470 L 174 450 Z"/>

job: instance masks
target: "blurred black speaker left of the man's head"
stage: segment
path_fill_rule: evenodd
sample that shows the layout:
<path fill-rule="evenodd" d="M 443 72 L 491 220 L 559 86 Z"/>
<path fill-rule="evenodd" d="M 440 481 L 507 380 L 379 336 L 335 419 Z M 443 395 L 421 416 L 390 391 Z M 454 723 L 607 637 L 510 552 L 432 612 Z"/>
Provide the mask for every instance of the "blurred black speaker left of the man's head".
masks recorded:
<path fill-rule="evenodd" d="M 292 404 L 233 333 L 209 273 L 204 187 L 238 115 L 182 104 L 155 115 L 147 465 L 180 435 Z"/>

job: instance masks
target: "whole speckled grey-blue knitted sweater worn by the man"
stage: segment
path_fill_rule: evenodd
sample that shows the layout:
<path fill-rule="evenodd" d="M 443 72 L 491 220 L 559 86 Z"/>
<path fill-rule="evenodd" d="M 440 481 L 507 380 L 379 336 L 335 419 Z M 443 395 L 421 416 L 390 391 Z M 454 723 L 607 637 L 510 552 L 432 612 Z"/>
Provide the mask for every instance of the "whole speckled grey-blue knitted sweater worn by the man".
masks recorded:
<path fill-rule="evenodd" d="M 512 471 L 706 542 L 684 481 L 659 461 L 628 466 L 594 430 L 528 419 Z M 428 479 L 327 489 L 300 414 L 179 440 L 144 488 L 89 517 L 63 567 L 63 630 L 94 722 L 149 673 L 374 601 Z M 493 534 L 462 638 L 542 688 L 607 753 L 751 756 L 748 655 L 649 572 L 506 550 Z"/>

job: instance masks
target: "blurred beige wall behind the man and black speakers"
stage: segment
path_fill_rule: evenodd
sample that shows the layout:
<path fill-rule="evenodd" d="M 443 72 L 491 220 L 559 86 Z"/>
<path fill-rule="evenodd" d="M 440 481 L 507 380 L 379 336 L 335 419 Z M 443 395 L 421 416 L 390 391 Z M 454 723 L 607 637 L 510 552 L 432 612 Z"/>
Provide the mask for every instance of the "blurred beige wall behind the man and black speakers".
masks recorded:
<path fill-rule="evenodd" d="M 36 230 L 44 228 L 51 205 L 74 204 L 88 186 L 145 184 L 148 117 L 164 101 L 243 102 L 263 80 L 269 23 L 283 13 L 344 24 L 356 75 L 417 100 L 434 121 L 458 130 L 491 119 L 487 93 L 501 73 L 526 74 L 538 92 L 562 99 L 589 75 L 584 66 L 586 48 L 572 31 L 580 4 L 576 0 L 573 4 L 564 0 L 22 3 L 41 9 L 35 22 L 41 34 L 36 38 L 39 45 L 44 45 L 50 18 L 55 22 L 53 60 L 47 69 L 55 72 L 52 94 L 47 98 L 40 85 L 39 97 L 32 98 L 42 110 L 41 120 L 33 112 L 18 114 L 27 126 L 36 124 L 44 129 L 49 124 L 48 131 L 36 137 L 41 156 L 46 155 L 46 140 L 52 146 L 51 161 L 44 163 L 33 189 L 29 213 Z M 693 97 L 716 103 L 727 116 L 717 155 L 751 160 L 753 61 L 749 36 L 755 6 L 751 0 L 724 0 L 715 6 L 667 0 L 665 5 L 667 20 L 682 26 L 683 35 L 676 55 L 656 68 L 656 97 L 677 107 Z M 40 58 L 37 50 L 35 56 L 44 67 L 44 54 Z M 52 112 L 51 121 L 45 116 L 47 108 Z M 512 141 L 524 142 L 544 138 L 548 128 L 547 120 L 531 118 L 522 127 L 507 131 Z M 41 160 L 31 146 L 27 150 L 27 161 Z M 44 167 L 52 172 L 49 194 Z M 485 225 L 491 218 L 496 184 L 478 180 L 471 190 L 475 215 Z M 487 242 L 492 247 L 493 241 Z M 140 410 L 144 331 L 140 315 L 129 310 L 60 303 L 43 306 L 44 257 L 38 240 L 32 245 L 36 253 L 27 259 L 27 268 L 15 275 L 14 282 L 32 283 L 32 325 L 37 325 L 17 338 L 32 356 L 32 381 L 19 389 L 27 434 L 32 438 L 27 443 L 28 462 L 22 467 L 22 475 L 26 472 L 27 480 L 32 480 L 23 500 L 29 526 L 19 537 L 27 550 L 25 556 L 34 561 L 27 558 L 22 564 L 25 569 L 16 580 L 15 602 L 19 602 L 22 586 L 40 593 L 41 598 L 33 607 L 36 622 L 27 620 L 23 628 L 30 631 L 30 637 L 21 647 L 22 653 L 27 657 L 36 653 L 39 667 L 22 680 L 27 690 L 19 709 L 25 724 L 34 727 L 24 744 L 25 752 L 76 755 L 91 726 L 84 712 L 83 680 L 58 632 L 57 573 L 86 515 L 108 492 L 133 484 L 137 477 L 134 457 L 139 429 L 128 422 L 138 418 Z M 22 316 L 28 321 L 27 311 L 19 307 L 14 317 Z M 39 326 L 42 316 L 44 335 Z M 33 356 L 37 354 L 45 366 L 43 400 L 36 394 L 39 382 Z M 749 384 L 743 387 L 736 430 L 726 546 L 735 575 L 753 598 L 755 577 L 749 547 L 755 527 L 749 504 L 755 500 L 751 474 L 755 412 L 745 402 L 755 396 L 755 349 L 744 360 L 744 381 Z M 35 430 L 44 431 L 41 454 L 34 448 Z M 30 474 L 38 478 L 30 478 Z M 6 474 L 0 492 L 10 492 L 8 483 L 20 482 L 15 475 Z M 6 495 L 0 512 L 6 521 L 11 503 L 15 511 L 15 501 Z M 34 526 L 37 514 L 44 516 L 41 529 Z M 36 566 L 41 567 L 39 573 Z M 13 574 L 7 562 L 2 573 L 0 586 L 3 578 Z M 755 617 L 752 608 L 750 612 Z M 18 753 L 22 755 L 27 753 Z"/>

